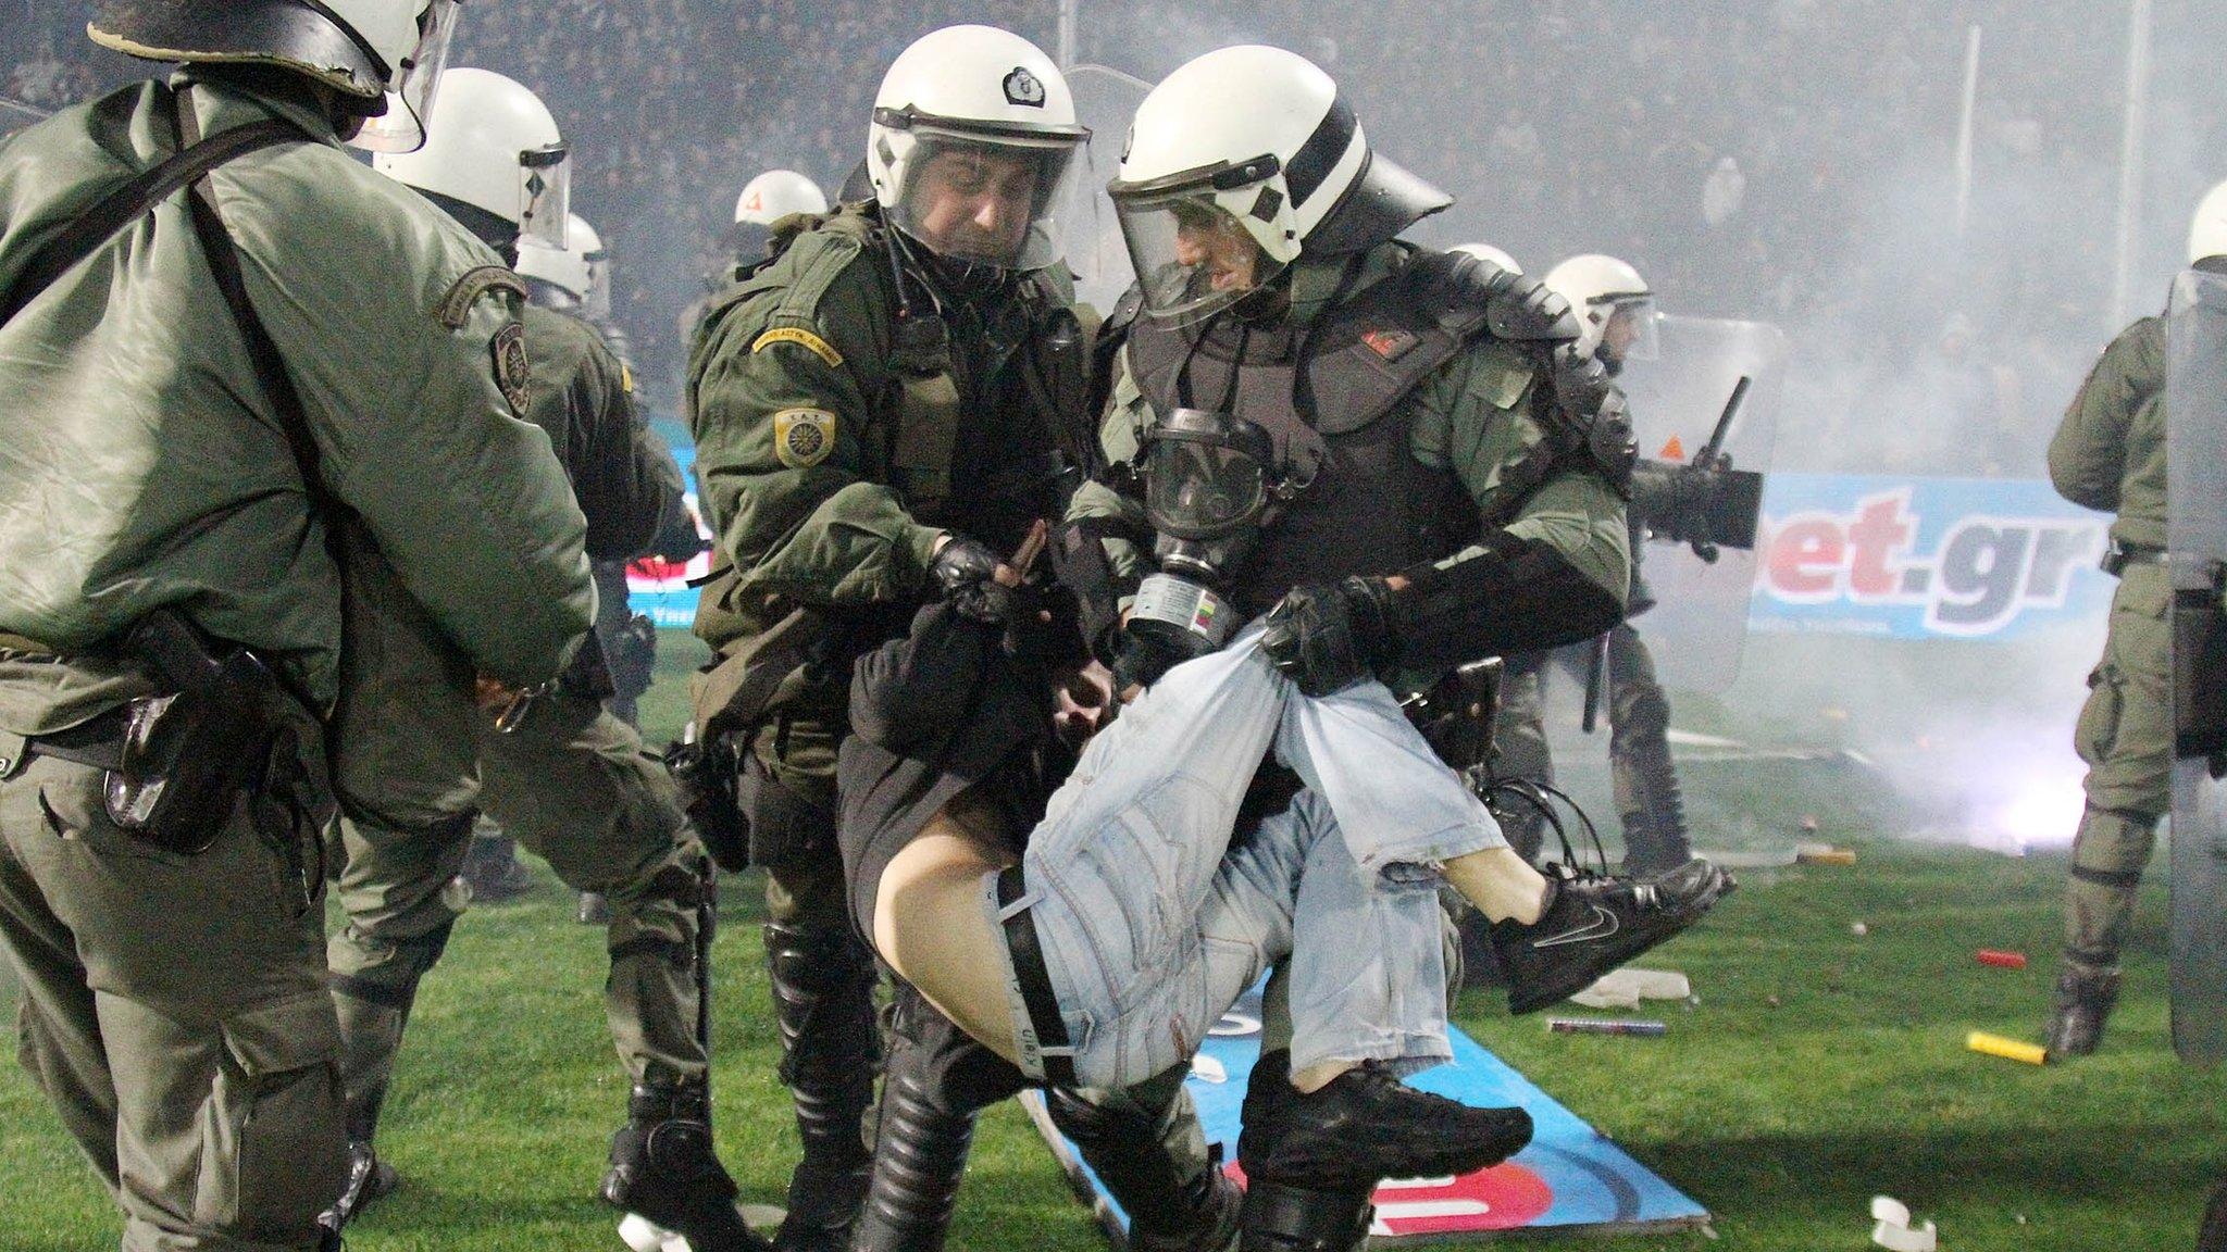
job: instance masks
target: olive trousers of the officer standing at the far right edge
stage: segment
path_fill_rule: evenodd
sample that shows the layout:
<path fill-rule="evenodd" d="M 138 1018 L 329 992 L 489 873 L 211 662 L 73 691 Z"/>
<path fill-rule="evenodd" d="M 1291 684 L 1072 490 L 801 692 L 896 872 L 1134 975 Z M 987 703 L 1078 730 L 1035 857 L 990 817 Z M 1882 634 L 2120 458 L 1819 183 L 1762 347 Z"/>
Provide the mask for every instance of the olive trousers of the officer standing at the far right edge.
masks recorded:
<path fill-rule="evenodd" d="M 2064 893 L 2064 956 L 2111 969 L 2158 818 L 2171 809 L 2174 588 L 2160 564 L 2131 564 L 2111 597 L 2111 633 L 2089 673 L 2073 749 L 2089 764 L 2087 811 Z"/>

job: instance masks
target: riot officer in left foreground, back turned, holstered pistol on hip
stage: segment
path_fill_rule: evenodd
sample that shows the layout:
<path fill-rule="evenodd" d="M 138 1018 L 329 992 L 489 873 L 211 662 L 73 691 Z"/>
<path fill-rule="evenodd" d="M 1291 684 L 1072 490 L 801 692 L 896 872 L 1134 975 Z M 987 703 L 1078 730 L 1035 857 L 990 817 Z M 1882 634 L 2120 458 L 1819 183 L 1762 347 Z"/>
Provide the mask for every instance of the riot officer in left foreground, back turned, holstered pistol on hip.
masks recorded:
<path fill-rule="evenodd" d="M 379 559 L 503 688 L 590 619 L 494 254 L 339 147 L 423 138 L 452 18 L 105 4 L 185 69 L 0 147 L 0 945 L 122 1248 L 336 1245 L 341 584 Z"/>

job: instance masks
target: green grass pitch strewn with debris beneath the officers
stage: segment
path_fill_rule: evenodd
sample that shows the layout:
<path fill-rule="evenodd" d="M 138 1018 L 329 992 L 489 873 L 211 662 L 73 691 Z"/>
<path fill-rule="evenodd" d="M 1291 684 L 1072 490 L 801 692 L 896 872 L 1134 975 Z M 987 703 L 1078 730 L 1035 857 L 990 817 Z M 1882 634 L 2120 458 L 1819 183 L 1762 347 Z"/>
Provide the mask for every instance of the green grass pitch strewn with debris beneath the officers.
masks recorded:
<path fill-rule="evenodd" d="M 688 664 L 684 644 L 666 635 L 668 679 Z M 657 733 L 677 720 L 677 684 L 664 682 L 646 722 Z M 1857 1252 L 1882 1192 L 1940 1223 L 1949 1252 L 2194 1243 L 2227 1165 L 2227 1078 L 2169 1049 L 2162 873 L 2145 887 L 2102 1054 L 2035 1069 L 1971 1054 L 1964 1034 L 2035 1036 L 2062 858 L 1895 842 L 1893 793 L 1840 760 L 1686 773 L 1697 809 L 1750 818 L 1755 842 L 1822 813 L 1819 833 L 1860 862 L 1750 876 L 1650 958 L 1684 969 L 1699 996 L 1664 1014 L 1666 1038 L 1550 1036 L 1485 994 L 1459 1005 L 1479 1040 L 1717 1216 L 1715 1239 L 1635 1245 Z M 405 1187 L 350 1248 L 624 1248 L 588 1199 L 624 1103 L 601 1027 L 601 936 L 534 869 L 543 889 L 470 913 L 425 982 L 383 1127 Z M 719 1141 L 746 1199 L 775 1201 L 795 1129 L 773 1078 L 753 889 L 730 880 L 717 945 Z M 1973 960 L 1980 947 L 2035 960 L 1991 969 Z M 0 1250 L 94 1252 L 116 1230 L 45 1098 L 0 1067 Z M 1011 1105 L 984 1118 L 951 1248 L 1102 1248 Z"/>

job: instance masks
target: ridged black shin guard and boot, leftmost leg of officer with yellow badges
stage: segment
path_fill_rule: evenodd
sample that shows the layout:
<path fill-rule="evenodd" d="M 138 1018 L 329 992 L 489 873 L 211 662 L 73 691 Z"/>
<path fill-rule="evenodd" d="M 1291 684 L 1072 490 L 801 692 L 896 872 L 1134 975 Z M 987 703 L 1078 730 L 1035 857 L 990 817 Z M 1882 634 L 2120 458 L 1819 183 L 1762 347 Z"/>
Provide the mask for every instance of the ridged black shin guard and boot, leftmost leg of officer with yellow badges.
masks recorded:
<path fill-rule="evenodd" d="M 768 922 L 766 974 L 782 1031 L 779 1074 L 795 1096 L 804 1145 L 775 1248 L 844 1252 L 873 1174 L 860 1125 L 882 1065 L 873 958 L 848 931 Z"/>

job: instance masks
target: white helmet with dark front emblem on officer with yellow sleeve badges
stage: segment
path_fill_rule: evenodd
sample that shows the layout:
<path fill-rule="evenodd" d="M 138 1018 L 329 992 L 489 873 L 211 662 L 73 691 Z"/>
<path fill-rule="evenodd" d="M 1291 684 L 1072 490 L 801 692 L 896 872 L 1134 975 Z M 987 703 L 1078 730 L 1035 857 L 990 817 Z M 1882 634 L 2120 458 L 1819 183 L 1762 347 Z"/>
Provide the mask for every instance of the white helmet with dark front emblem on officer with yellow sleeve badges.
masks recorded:
<path fill-rule="evenodd" d="M 944 27 L 882 76 L 866 174 L 884 218 L 929 252 L 1040 270 L 1060 256 L 1053 216 L 1089 136 L 1042 49 L 995 27 Z"/>

